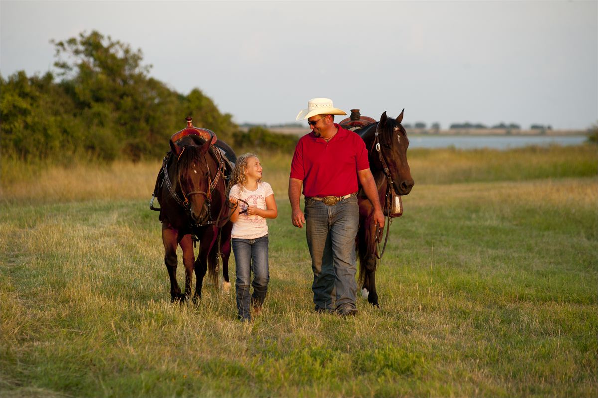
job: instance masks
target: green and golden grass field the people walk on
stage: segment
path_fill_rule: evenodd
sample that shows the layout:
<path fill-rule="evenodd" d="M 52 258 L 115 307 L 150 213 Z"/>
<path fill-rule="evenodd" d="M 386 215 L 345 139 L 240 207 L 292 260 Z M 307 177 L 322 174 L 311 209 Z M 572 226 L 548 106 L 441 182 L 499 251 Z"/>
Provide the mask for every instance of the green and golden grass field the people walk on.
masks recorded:
<path fill-rule="evenodd" d="M 312 311 L 290 156 L 261 156 L 279 217 L 251 324 L 234 289 L 170 303 L 160 162 L 4 162 L 0 395 L 597 396 L 596 145 L 409 155 L 380 308 L 349 319 Z"/>

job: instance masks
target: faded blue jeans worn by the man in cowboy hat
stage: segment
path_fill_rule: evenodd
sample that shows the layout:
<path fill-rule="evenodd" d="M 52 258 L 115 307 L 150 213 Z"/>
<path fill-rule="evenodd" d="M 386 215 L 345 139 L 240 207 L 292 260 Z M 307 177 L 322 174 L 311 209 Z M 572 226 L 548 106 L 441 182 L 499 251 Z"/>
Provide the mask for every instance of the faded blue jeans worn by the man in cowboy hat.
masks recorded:
<path fill-rule="evenodd" d="M 355 238 L 359 226 L 356 196 L 334 206 L 306 198 L 305 218 L 316 310 L 355 308 Z"/>

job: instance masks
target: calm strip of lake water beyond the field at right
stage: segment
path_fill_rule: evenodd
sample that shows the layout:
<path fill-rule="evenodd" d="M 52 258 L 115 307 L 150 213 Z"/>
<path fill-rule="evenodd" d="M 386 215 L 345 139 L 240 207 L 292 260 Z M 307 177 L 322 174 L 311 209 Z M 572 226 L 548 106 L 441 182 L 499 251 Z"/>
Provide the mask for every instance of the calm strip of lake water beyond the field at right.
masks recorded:
<path fill-rule="evenodd" d="M 586 139 L 584 135 L 413 135 L 409 137 L 409 147 L 506 150 L 529 145 L 542 147 L 552 144 L 579 145 L 583 144 Z"/>

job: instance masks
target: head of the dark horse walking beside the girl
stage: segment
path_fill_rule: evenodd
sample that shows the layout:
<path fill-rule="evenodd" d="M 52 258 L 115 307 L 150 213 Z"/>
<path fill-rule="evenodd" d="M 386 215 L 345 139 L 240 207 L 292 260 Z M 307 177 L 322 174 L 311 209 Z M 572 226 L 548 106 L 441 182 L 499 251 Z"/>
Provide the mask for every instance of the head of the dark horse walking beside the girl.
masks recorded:
<path fill-rule="evenodd" d="M 209 154 L 213 142 L 216 142 L 215 135 L 208 141 L 197 135 L 188 135 L 176 144 L 170 142 L 176 156 L 175 185 L 196 224 L 205 224 L 210 217 L 212 180 L 218 172 L 218 163 Z"/>

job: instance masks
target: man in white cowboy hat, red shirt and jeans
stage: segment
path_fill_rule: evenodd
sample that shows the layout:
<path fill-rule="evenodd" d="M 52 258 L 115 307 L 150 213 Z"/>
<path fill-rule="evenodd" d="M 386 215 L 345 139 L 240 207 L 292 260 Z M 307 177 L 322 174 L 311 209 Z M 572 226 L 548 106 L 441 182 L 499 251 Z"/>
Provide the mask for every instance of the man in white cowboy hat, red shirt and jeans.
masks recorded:
<path fill-rule="evenodd" d="M 334 115 L 346 113 L 334 108 L 328 98 L 314 98 L 307 105 L 296 118 L 307 119 L 312 132 L 297 142 L 291 161 L 291 221 L 298 228 L 307 224 L 316 311 L 356 315 L 358 181 L 374 206 L 374 222 L 380 227 L 384 215 L 364 141 L 334 123 Z M 305 214 L 300 206 L 302 186 Z"/>

